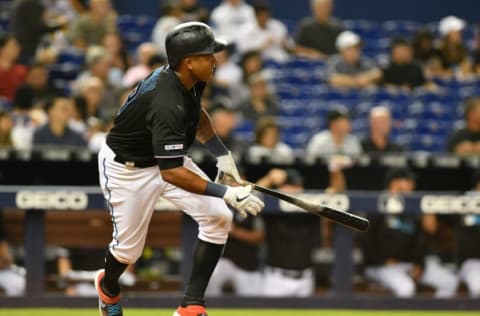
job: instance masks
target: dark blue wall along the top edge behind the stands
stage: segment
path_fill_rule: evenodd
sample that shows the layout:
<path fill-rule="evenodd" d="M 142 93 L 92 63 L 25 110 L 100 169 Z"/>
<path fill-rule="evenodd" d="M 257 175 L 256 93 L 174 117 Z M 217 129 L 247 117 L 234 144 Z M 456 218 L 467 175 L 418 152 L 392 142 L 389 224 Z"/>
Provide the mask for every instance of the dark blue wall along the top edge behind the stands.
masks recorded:
<path fill-rule="evenodd" d="M 336 16 L 342 19 L 365 19 L 374 21 L 412 20 L 420 22 L 438 21 L 454 14 L 469 22 L 480 21 L 480 2 L 478 0 L 335 0 Z M 220 0 L 200 0 L 213 8 Z M 251 0 L 249 0 L 251 2 Z M 161 1 L 115 0 L 115 6 L 121 14 L 158 15 Z M 282 20 L 297 20 L 309 14 L 310 0 L 270 0 L 274 14 Z M 288 9 L 287 9 L 288 8 Z"/>

